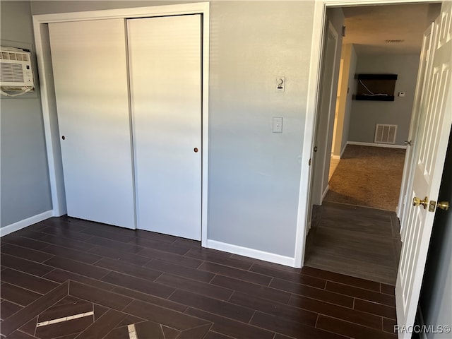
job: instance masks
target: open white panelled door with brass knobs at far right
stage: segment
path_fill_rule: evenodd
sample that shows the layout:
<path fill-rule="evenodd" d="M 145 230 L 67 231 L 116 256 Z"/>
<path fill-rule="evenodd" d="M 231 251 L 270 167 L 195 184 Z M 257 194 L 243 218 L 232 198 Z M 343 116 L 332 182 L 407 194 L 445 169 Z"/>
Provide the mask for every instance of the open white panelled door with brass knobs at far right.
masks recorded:
<path fill-rule="evenodd" d="M 448 136 L 452 124 L 452 2 L 445 1 L 436 19 L 431 75 L 422 93 L 420 129 L 415 150 L 415 168 L 410 197 L 417 200 L 406 216 L 406 230 L 396 283 L 397 323 L 399 328 L 412 326 L 419 301 L 427 250 L 432 233 L 436 199 Z M 420 203 L 420 205 L 419 205 Z M 408 206 L 406 207 L 408 208 Z M 399 331 L 399 338 L 411 338 L 409 331 Z"/>

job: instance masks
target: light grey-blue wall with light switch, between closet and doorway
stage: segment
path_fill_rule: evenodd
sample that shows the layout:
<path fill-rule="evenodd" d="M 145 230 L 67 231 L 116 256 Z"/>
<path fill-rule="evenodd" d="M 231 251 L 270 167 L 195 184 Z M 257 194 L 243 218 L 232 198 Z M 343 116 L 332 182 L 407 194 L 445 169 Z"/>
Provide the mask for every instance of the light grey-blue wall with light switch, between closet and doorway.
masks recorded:
<path fill-rule="evenodd" d="M 32 13 L 155 4 L 175 2 L 32 1 Z M 208 239 L 295 254 L 313 20 L 313 1 L 210 3 Z"/>

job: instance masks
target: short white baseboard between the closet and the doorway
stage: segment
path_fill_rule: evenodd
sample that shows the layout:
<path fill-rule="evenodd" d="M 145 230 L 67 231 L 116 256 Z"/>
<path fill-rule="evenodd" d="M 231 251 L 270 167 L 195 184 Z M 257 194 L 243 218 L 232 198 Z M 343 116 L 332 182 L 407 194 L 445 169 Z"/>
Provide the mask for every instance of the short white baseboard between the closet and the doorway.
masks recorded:
<path fill-rule="evenodd" d="M 295 267 L 295 258 L 258 251 L 257 249 L 249 249 L 248 247 L 226 244 L 225 242 L 217 242 L 216 240 L 207 239 L 207 248 L 218 249 L 220 251 L 239 254 L 240 256 L 248 256 L 263 261 L 270 261 L 270 263 L 279 263 L 280 265 Z"/>

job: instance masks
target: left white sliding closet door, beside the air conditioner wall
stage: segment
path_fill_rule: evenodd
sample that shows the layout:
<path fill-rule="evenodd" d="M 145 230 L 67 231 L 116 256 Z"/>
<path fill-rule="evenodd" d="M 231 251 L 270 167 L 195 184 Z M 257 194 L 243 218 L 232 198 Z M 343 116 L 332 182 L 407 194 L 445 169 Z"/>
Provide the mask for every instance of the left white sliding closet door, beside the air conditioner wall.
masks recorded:
<path fill-rule="evenodd" d="M 135 228 L 124 19 L 49 35 L 68 215 Z"/>

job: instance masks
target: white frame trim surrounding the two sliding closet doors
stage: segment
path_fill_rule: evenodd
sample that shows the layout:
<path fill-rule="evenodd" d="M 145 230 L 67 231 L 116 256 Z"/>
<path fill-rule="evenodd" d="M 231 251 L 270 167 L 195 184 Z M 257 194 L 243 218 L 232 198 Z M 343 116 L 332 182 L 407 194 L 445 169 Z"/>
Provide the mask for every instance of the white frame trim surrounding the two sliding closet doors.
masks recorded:
<path fill-rule="evenodd" d="M 53 13 L 33 16 L 37 69 L 40 78 L 40 97 L 44 133 L 47 147 L 50 188 L 52 193 L 52 216 L 66 214 L 63 167 L 57 106 L 50 58 L 49 23 L 66 21 L 99 20 L 109 18 L 152 18 L 154 16 L 202 15 L 202 103 L 201 103 L 201 246 L 207 246 L 208 210 L 208 94 L 209 94 L 209 23 L 210 3 L 174 4 L 138 8 L 119 8 L 100 11 Z M 125 23 L 124 23 L 125 25 Z"/>

